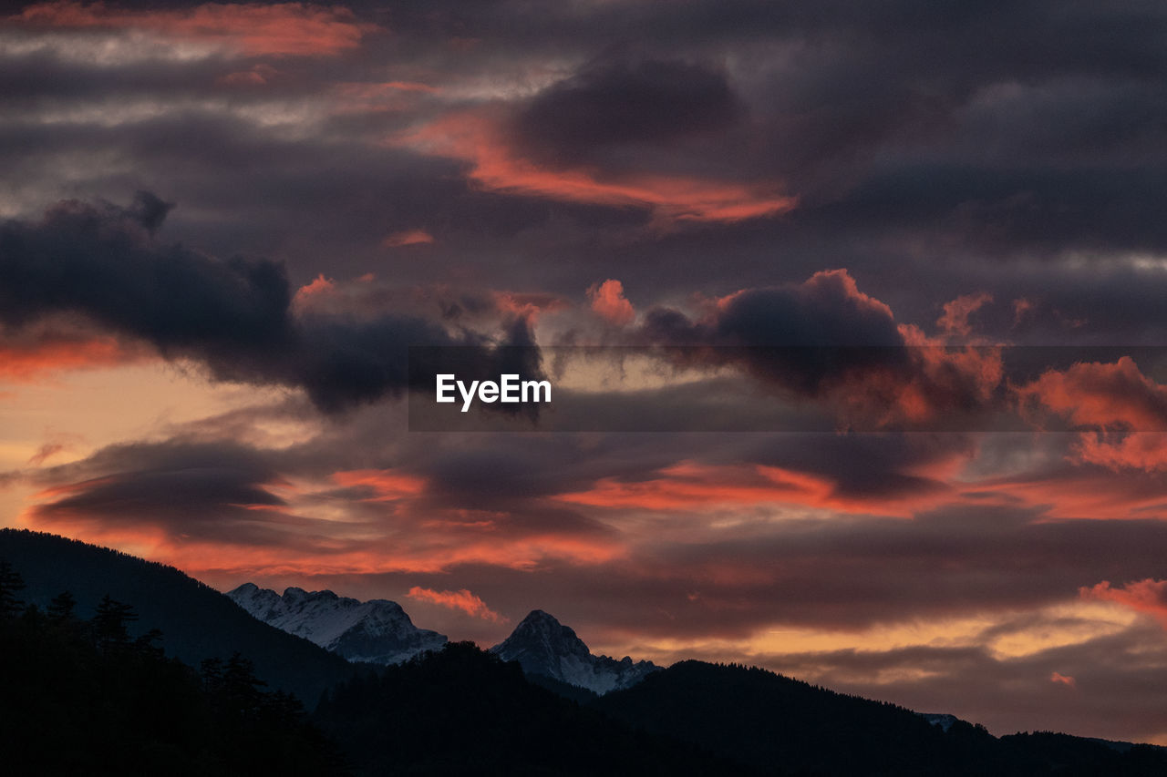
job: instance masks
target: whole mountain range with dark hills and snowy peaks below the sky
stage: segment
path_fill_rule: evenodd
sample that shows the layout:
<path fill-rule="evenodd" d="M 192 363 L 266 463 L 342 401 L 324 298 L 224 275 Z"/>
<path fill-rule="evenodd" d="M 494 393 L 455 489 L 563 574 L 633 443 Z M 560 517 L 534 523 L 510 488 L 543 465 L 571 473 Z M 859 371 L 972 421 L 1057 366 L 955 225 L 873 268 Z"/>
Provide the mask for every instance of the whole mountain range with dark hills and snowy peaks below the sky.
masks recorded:
<path fill-rule="evenodd" d="M 272 774 L 271 748 L 285 747 L 281 727 L 300 732 L 293 738 L 306 743 L 303 758 L 356 777 L 1167 774 L 1167 750 L 1153 746 L 1054 733 L 993 736 L 949 715 L 923 716 L 756 667 L 687 660 L 661 668 L 592 656 L 572 629 L 539 610 L 490 651 L 446 642 L 394 664 L 352 664 L 260 622 L 177 569 L 117 551 L 4 530 L 0 562 L 0 659 L 19 686 L 15 695 L 0 694 L 0 766 L 27 764 L 12 774 L 134 774 L 118 754 L 147 751 L 155 771 L 167 774 Z M 277 620 L 298 608 L 328 614 L 317 614 L 312 635 L 329 644 L 363 620 L 415 629 L 390 603 L 341 604 L 335 594 L 300 589 L 275 602 L 242 588 L 235 593 L 267 602 Z M 62 620 L 60 604 L 49 603 L 65 590 L 77 614 Z M 165 657 L 134 635 L 102 637 L 97 603 L 106 595 L 134 608 L 134 634 L 163 630 Z M 29 607 L 21 612 L 13 603 Z M 413 632 L 403 635 L 410 642 Z M 264 684 L 308 701 L 310 716 Z M 264 738 L 246 730 L 256 699 L 268 709 Z M 201 722 L 187 735 L 182 719 Z M 53 740 L 61 730 L 69 732 L 65 749 Z M 207 736 L 224 742 L 225 755 L 207 750 Z M 217 757 L 237 766 L 224 770 L 211 763 Z M 99 763 L 116 768 L 103 771 Z"/>

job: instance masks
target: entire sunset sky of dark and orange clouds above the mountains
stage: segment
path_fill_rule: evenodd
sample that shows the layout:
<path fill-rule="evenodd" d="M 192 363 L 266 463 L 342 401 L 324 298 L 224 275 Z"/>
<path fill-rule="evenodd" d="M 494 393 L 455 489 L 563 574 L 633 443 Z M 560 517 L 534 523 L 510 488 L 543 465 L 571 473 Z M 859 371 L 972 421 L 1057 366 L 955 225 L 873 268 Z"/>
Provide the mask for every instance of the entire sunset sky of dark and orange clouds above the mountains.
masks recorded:
<path fill-rule="evenodd" d="M 5 4 L 0 524 L 1167 744 L 1165 34 Z M 523 345 L 602 422 L 411 432 L 411 345 Z"/>

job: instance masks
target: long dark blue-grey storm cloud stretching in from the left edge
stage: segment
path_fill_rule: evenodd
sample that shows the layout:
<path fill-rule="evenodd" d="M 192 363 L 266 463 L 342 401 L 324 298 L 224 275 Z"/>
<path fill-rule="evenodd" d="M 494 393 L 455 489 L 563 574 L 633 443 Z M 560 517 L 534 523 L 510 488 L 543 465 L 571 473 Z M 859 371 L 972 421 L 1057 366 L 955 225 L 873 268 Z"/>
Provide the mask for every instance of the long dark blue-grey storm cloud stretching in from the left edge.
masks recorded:
<path fill-rule="evenodd" d="M 140 192 L 131 208 L 65 202 L 39 224 L 0 225 L 0 321 L 19 329 L 81 315 L 167 358 L 195 358 L 218 379 L 302 387 L 326 411 L 400 394 L 410 345 L 461 344 L 494 358 L 477 348 L 483 337 L 455 338 L 422 318 L 298 316 L 282 265 L 154 242 L 170 206 Z M 505 337 L 532 343 L 523 318 Z M 537 363 L 522 366 L 538 373 Z"/>

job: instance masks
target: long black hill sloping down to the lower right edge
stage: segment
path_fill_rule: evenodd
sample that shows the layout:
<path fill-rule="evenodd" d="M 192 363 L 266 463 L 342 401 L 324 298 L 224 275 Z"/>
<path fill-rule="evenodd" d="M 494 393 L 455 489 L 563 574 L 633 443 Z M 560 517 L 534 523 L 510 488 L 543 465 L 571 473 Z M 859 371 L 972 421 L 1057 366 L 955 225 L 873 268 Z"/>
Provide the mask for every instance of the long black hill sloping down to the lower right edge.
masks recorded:
<path fill-rule="evenodd" d="M 767 775 L 1167 775 L 1167 750 L 1064 734 L 994 737 L 760 668 L 682 662 L 589 702 L 627 726 Z"/>

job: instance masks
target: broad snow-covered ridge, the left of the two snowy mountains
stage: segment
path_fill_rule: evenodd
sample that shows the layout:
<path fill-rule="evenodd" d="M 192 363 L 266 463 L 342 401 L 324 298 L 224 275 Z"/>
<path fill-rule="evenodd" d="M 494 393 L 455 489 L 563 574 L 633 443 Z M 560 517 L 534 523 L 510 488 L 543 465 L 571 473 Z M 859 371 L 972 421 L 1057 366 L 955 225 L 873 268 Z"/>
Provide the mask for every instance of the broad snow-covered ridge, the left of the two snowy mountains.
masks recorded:
<path fill-rule="evenodd" d="M 398 664 L 446 644 L 445 635 L 417 628 L 400 604 L 384 598 L 361 602 L 302 588 L 280 596 L 250 582 L 228 596 L 260 621 L 354 662 Z"/>

